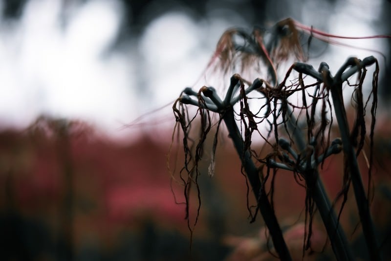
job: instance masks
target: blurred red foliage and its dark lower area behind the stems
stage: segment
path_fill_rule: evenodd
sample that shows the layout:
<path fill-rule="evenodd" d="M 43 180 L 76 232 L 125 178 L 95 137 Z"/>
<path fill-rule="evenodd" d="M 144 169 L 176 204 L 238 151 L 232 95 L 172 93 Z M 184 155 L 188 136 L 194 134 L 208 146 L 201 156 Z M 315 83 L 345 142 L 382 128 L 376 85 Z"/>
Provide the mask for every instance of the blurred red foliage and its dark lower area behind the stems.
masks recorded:
<path fill-rule="evenodd" d="M 386 163 L 391 152 L 387 126 L 380 122 L 379 127 L 372 214 L 387 249 L 391 182 Z M 156 142 L 148 137 L 129 144 L 118 143 L 99 136 L 82 122 L 47 118 L 38 119 L 24 131 L 2 131 L 2 258 L 189 260 L 185 206 L 174 203 L 166 168 L 168 144 L 169 141 Z M 250 255 L 246 242 L 252 242 L 252 253 L 262 256 L 267 252 L 266 241 L 262 224 L 249 224 L 246 219 L 246 186 L 240 162 L 228 142 L 220 144 L 217 152 L 213 178 L 207 175 L 208 164 L 201 166 L 205 168 L 200 176 L 203 205 L 195 228 L 192 257 L 221 260 L 230 256 L 230 249 L 236 249 L 230 260 L 246 260 L 244 257 Z M 175 155 L 175 149 L 172 153 Z M 181 161 L 177 160 L 179 167 Z M 341 186 L 342 162 L 341 156 L 325 162 L 322 178 L 331 198 Z M 360 164 L 366 166 L 364 158 L 360 158 Z M 302 246 L 300 213 L 305 191 L 296 186 L 289 172 L 279 172 L 275 183 L 276 214 L 291 238 L 287 244 L 292 252 L 301 253 L 301 248 L 296 248 Z M 177 200 L 183 202 L 182 190 L 175 185 L 173 188 Z M 341 224 L 360 249 L 363 239 L 361 228 L 353 233 L 358 223 L 354 213 L 355 205 L 348 204 Z M 325 231 L 320 217 L 315 223 L 319 228 L 319 246 L 326 243 L 322 237 Z M 329 255 L 328 251 L 327 246 L 322 255 Z"/>

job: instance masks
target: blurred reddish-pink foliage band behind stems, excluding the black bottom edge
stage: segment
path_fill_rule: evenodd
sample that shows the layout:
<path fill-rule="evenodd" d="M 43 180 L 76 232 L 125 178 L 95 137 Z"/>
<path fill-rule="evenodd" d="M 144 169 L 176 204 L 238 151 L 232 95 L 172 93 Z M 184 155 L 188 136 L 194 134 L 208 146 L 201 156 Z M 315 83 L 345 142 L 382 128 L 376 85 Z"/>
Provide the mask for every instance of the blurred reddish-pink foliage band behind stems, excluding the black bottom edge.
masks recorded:
<path fill-rule="evenodd" d="M 382 191 L 386 194 L 390 191 L 389 171 L 382 163 L 389 155 L 382 152 L 386 144 L 384 141 L 389 139 L 388 125 L 379 126 L 381 129 L 375 143 L 378 157 L 372 180 L 375 188 L 381 185 L 383 189 L 374 190 L 372 212 L 376 225 L 388 229 L 390 224 L 384 216 L 391 213 L 391 208 L 387 204 L 387 196 L 382 195 Z M 201 242 L 193 247 L 193 255 L 203 259 L 205 249 L 208 249 L 206 245 L 211 247 L 210 242 L 214 242 L 214 251 L 221 251 L 216 254 L 219 258 L 246 260 L 243 259 L 248 255 L 246 251 L 255 251 L 259 257 L 270 258 L 269 254 L 265 254 L 264 235 L 259 238 L 263 231 L 261 217 L 255 223 L 249 223 L 246 180 L 240 173 L 239 159 L 224 131 L 217 147 L 215 176 L 207 175 L 207 157 L 200 166 L 201 209 L 195 227 L 198 203 L 196 194 L 191 193 L 190 227 L 194 229 L 193 236 Z M 88 245 L 91 238 L 99 249 L 96 251 L 113 253 L 123 244 L 121 238 L 124 235 L 135 235 L 134 240 L 145 241 L 145 244 L 153 236 L 153 240 L 163 244 L 168 240 L 167 235 L 160 237 L 159 233 L 174 231 L 177 234 L 172 240 L 182 240 L 181 244 L 174 243 L 174 246 L 181 249 L 181 258 L 186 256 L 188 259 L 190 232 L 185 220 L 185 204 L 175 203 L 175 198 L 184 202 L 184 188 L 171 183 L 168 169 L 169 163 L 170 169 L 175 171 L 174 177 L 178 179 L 178 171 L 183 166 L 181 140 L 174 142 L 169 153 L 171 131 L 161 137 L 167 139 L 159 140 L 146 132 L 130 137 L 129 142 L 118 142 L 98 134 L 83 122 L 44 117 L 24 130 L 3 130 L 0 133 L 0 213 L 5 217 L 18 215 L 26 220 L 39 220 L 48 228 L 52 240 L 64 238 L 61 240 L 68 242 L 76 254 Z M 167 155 L 170 155 L 170 160 Z M 359 161 L 365 170 L 365 159 L 360 157 Z M 342 166 L 342 155 L 335 155 L 326 160 L 321 170 L 321 177 L 332 199 L 342 186 Z M 368 182 L 366 171 L 363 171 L 363 179 Z M 305 190 L 295 182 L 293 174 L 279 171 L 275 179 L 275 211 L 282 227 L 289 228 L 285 235 L 288 246 L 299 257 L 304 235 L 304 197 Z M 347 235 L 355 235 L 351 237 L 354 240 L 361 232 L 359 228 L 353 233 L 358 217 L 354 197 L 351 193 L 348 197 L 341 225 Z M 250 204 L 255 203 L 251 191 L 249 199 Z M 341 201 L 338 201 L 337 210 L 340 204 Z M 314 224 L 316 249 L 321 251 L 322 242 L 326 243 L 326 232 L 319 217 L 315 218 Z M 246 237 L 249 235 L 253 237 Z M 263 247 L 246 250 L 246 242 L 253 240 Z M 142 246 L 133 247 L 137 249 L 135 253 L 143 249 Z M 144 251 L 148 254 L 148 250 Z M 331 253 L 328 243 L 326 253 Z M 130 257 L 132 255 L 136 254 Z"/>

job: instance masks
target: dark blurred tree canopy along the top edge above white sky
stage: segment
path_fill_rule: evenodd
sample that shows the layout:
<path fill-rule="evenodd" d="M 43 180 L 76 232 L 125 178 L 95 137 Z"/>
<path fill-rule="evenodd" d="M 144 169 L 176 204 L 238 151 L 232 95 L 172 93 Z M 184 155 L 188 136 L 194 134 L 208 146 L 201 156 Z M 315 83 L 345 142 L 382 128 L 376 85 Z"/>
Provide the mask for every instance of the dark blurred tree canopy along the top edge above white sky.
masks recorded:
<path fill-rule="evenodd" d="M 316 16 L 314 16 L 314 23 L 327 26 L 330 14 L 334 8 L 338 8 L 338 0 L 318 0 L 313 4 L 311 1 L 300 1 L 300 4 L 292 3 L 289 0 L 119 0 L 124 6 L 124 21 L 117 36 L 117 44 L 121 44 L 123 40 L 128 39 L 129 35 L 140 36 L 147 25 L 154 19 L 166 12 L 178 11 L 185 12 L 192 16 L 195 20 L 204 19 L 207 12 L 213 9 L 230 10 L 243 17 L 250 25 L 264 26 L 265 22 L 276 22 L 286 17 L 291 17 L 298 21 L 302 20 L 303 6 L 313 5 Z M 2 3 L 2 17 L 4 20 L 18 20 L 23 12 L 23 7 L 28 0 L 3 0 Z M 70 5 L 77 5 L 87 2 L 87 0 L 62 0 L 64 9 Z M 319 3 L 319 4 L 318 4 Z M 380 29 L 384 34 L 391 32 L 391 3 L 383 0 L 381 3 L 382 12 L 372 26 Z M 282 8 L 282 6 L 284 8 Z M 328 6 L 327 10 L 321 10 L 322 6 Z M 308 14 L 306 14 L 308 15 Z M 65 18 L 66 19 L 66 18 Z M 229 19 L 229 18 L 227 18 Z M 323 21 L 324 23 L 321 23 Z M 312 25 L 312 24 L 307 24 Z M 319 25 L 318 25 L 319 26 Z M 338 25 L 336 25 L 338 26 Z M 320 28 L 327 30 L 328 28 Z M 391 40 L 386 42 L 385 55 L 389 56 Z M 115 48 L 115 47 L 114 47 Z M 388 100 L 391 96 L 390 75 L 391 61 L 387 60 L 387 73 L 380 75 L 380 94 L 383 100 Z"/>

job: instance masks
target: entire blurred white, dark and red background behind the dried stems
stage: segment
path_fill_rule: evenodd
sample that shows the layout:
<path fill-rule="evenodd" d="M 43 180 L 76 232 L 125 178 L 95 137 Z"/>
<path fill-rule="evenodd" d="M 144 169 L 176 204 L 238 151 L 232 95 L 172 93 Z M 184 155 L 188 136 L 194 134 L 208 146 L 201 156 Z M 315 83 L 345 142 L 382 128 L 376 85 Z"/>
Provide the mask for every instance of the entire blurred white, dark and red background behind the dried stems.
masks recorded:
<path fill-rule="evenodd" d="M 184 87 L 216 77 L 203 72 L 228 28 L 267 28 L 291 17 L 332 34 L 391 34 L 390 13 L 387 0 L 0 1 L 0 259 L 245 260 L 240 255 L 267 252 L 262 221 L 249 224 L 245 179 L 228 139 L 217 149 L 215 177 L 203 166 L 190 243 L 167 167 L 182 163 L 178 143 L 167 157 L 171 104 Z M 348 44 L 388 59 L 321 45 L 310 61 L 338 68 L 348 56 L 373 54 L 381 64 L 372 211 L 387 257 L 391 42 Z M 331 160 L 322 177 L 333 197 L 342 159 Z M 299 231 L 291 241 L 300 252 L 305 191 L 291 176 L 277 188 L 277 214 Z M 182 202 L 182 188 L 173 190 Z M 348 205 L 342 222 L 365 258 L 360 228 L 353 233 L 356 212 Z M 329 248 L 315 256 L 329 259 Z"/>

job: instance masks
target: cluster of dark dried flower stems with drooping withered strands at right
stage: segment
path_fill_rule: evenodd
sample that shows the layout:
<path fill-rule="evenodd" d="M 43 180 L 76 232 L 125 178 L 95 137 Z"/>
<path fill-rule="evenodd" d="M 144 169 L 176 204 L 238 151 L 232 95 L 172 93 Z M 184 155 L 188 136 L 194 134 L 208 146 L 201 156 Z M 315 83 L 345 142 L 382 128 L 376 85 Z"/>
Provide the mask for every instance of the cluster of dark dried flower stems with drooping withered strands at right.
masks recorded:
<path fill-rule="evenodd" d="M 215 130 L 209 167 L 209 174 L 213 175 L 217 134 L 221 122 L 224 121 L 239 153 L 242 162 L 241 171 L 247 175 L 248 183 L 251 185 L 251 190 L 253 190 L 258 202 L 255 212 L 247 204 L 251 222 L 255 220 L 260 210 L 280 258 L 289 259 L 290 257 L 289 253 L 284 253 L 287 250 L 283 246 L 283 238 L 280 238 L 282 241 L 278 239 L 281 229 L 279 227 L 273 228 L 273 220 L 277 220 L 273 206 L 274 182 L 271 182 L 270 191 L 265 191 L 266 181 L 274 179 L 280 168 L 292 171 L 297 183 L 306 190 L 303 257 L 305 251 L 310 249 L 312 220 L 316 210 L 319 209 L 321 214 L 323 212 L 322 218 L 337 259 L 352 259 L 351 252 L 342 249 L 341 245 L 346 244 L 347 241 L 338 226 L 339 217 L 348 200 L 352 179 L 355 192 L 357 187 L 357 193 L 361 193 L 359 196 L 356 194 L 356 201 L 359 206 L 364 234 L 366 237 L 373 236 L 370 215 L 364 213 L 365 211 L 369 213 L 367 199 L 369 194 L 360 190 L 362 187 L 361 176 L 360 173 L 355 173 L 354 166 L 350 165 L 352 156 L 349 153 L 354 151 L 355 158 L 361 153 L 365 154 L 363 147 L 369 140 L 369 193 L 373 162 L 373 131 L 377 108 L 378 63 L 373 57 L 367 57 L 364 60 L 349 58 L 335 76 L 331 76 L 326 63 L 322 63 L 319 70 L 316 71 L 312 66 L 303 63 L 307 61 L 308 57 L 308 52 L 304 49 L 309 50 L 314 37 L 321 40 L 330 39 L 330 35 L 291 19 L 283 20 L 267 30 L 256 28 L 251 33 L 242 29 L 228 30 L 218 42 L 216 53 L 208 68 L 228 73 L 231 70 L 246 71 L 252 67 L 263 74 L 264 71 L 267 71 L 264 78 L 257 78 L 251 83 L 239 74 L 234 74 L 224 99 L 217 96 L 214 88 L 203 86 L 198 92 L 186 88 L 175 101 L 173 105 L 176 119 L 175 130 L 179 128 L 182 131 L 185 160 L 178 176 L 173 173 L 173 180 L 184 187 L 186 218 L 191 231 L 197 222 L 201 205 L 198 176 L 201 174 L 199 163 L 203 156 L 204 143 L 208 134 Z M 331 42 L 331 40 L 327 41 Z M 296 62 L 279 82 L 279 68 L 291 60 Z M 363 84 L 367 76 L 366 67 L 372 64 L 376 65 L 372 75 L 372 88 L 369 95 L 364 97 Z M 353 74 L 356 75 L 355 78 L 351 77 Z M 356 118 L 351 128 L 348 127 L 346 119 L 342 95 L 343 84 L 353 89 L 351 103 L 355 109 Z M 301 102 L 298 102 L 299 100 Z M 239 104 L 239 106 L 236 105 L 236 109 L 234 109 L 235 104 Z M 196 106 L 195 115 L 191 115 L 189 106 Z M 369 139 L 366 122 L 367 107 L 370 107 Z M 218 117 L 214 117 L 212 114 L 217 114 Z M 332 123 L 335 116 L 340 127 L 341 139 L 331 141 Z M 201 129 L 197 136 L 193 137 L 194 132 L 191 132 L 191 128 L 192 125 L 195 125 L 193 124 L 195 119 L 200 119 Z M 215 124 L 217 127 L 213 128 Z M 303 131 L 303 126 L 305 131 Z M 346 137 L 344 133 L 347 133 Z M 271 152 L 266 156 L 261 156 L 252 148 L 252 140 L 255 135 L 260 136 L 264 140 L 264 146 L 269 147 Z M 327 156 L 342 150 L 345 156 L 343 186 L 337 198 L 334 199 L 335 203 L 342 198 L 342 204 L 338 211 L 337 220 L 335 220 L 334 204 L 330 205 L 319 179 L 318 166 L 323 166 Z M 367 158 L 366 155 L 365 157 Z M 254 166 L 256 167 L 254 168 Z M 189 197 L 193 189 L 197 192 L 198 206 L 195 222 L 191 224 Z M 361 211 L 360 205 L 363 206 L 363 211 Z M 269 207 L 270 211 L 265 210 Z M 324 209 L 322 210 L 322 208 Z M 364 217 L 361 215 L 362 213 L 364 213 Z M 369 220 L 363 220 L 368 218 L 368 215 Z M 267 222 L 269 217 L 271 225 L 268 225 Z M 369 224 L 365 224 L 367 222 Z M 368 234 L 365 233 L 367 225 L 369 226 Z M 373 239 L 369 238 L 369 240 Z M 278 244 L 282 244 L 282 246 L 278 246 Z M 372 258 L 379 259 L 379 254 L 373 253 L 378 250 L 376 240 L 373 244 L 374 246 L 369 246 L 369 253 Z"/>

